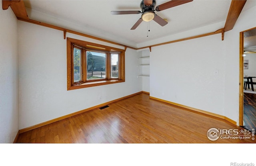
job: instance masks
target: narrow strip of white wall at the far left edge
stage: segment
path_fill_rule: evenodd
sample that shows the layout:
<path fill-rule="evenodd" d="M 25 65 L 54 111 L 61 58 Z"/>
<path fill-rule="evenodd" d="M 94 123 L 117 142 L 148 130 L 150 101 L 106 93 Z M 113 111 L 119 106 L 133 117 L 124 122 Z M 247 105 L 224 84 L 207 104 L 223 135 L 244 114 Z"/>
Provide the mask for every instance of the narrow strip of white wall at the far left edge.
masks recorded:
<path fill-rule="evenodd" d="M 18 133 L 18 21 L 0 1 L 0 143 Z"/>

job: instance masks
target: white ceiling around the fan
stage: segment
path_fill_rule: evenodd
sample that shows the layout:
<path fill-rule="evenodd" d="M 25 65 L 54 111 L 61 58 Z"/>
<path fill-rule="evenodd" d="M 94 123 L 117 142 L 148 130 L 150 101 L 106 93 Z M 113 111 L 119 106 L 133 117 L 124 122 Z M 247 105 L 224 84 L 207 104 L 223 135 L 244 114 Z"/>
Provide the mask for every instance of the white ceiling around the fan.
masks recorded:
<path fill-rule="evenodd" d="M 156 6 L 169 0 L 156 0 Z M 130 28 L 141 14 L 111 15 L 112 10 L 140 10 L 141 0 L 25 0 L 28 16 L 32 20 L 50 23 L 70 30 L 100 37 L 131 47 L 206 27 L 212 32 L 223 28 L 231 0 L 194 0 L 160 12 L 167 19 L 164 27 L 155 21 L 142 22 L 135 30 Z M 248 0 L 244 9 L 255 6 L 255 0 Z M 148 32 L 148 26 L 150 32 Z M 148 37 L 147 37 L 148 35 Z"/>

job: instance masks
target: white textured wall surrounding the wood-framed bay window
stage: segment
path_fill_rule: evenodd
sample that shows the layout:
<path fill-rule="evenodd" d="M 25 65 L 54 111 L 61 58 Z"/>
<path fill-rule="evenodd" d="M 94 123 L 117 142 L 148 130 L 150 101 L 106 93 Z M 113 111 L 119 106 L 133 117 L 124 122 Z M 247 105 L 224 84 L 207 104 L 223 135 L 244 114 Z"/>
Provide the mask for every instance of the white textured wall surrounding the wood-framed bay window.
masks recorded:
<path fill-rule="evenodd" d="M 23 21 L 18 28 L 20 129 L 142 91 L 132 49 L 125 53 L 125 82 L 67 91 L 63 32 Z"/>

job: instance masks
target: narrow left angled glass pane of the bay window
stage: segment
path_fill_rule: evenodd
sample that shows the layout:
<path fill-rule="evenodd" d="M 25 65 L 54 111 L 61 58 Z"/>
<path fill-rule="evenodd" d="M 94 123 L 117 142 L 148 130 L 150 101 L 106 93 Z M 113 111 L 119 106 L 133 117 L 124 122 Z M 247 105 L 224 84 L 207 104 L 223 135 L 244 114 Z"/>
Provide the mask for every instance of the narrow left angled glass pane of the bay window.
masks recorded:
<path fill-rule="evenodd" d="M 81 80 L 81 49 L 74 48 L 74 82 Z"/>

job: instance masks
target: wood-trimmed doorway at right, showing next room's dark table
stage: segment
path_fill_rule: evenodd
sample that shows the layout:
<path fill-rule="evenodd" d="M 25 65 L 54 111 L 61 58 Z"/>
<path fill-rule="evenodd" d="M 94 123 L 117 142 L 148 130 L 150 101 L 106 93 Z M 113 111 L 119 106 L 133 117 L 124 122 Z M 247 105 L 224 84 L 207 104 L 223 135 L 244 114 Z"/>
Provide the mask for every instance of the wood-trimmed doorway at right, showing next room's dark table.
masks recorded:
<path fill-rule="evenodd" d="M 250 77 L 256 77 L 256 27 L 240 32 L 239 125 L 248 130 L 256 127 L 256 78 Z"/>

